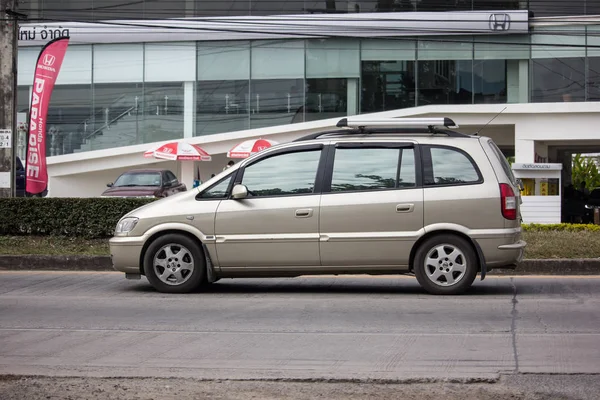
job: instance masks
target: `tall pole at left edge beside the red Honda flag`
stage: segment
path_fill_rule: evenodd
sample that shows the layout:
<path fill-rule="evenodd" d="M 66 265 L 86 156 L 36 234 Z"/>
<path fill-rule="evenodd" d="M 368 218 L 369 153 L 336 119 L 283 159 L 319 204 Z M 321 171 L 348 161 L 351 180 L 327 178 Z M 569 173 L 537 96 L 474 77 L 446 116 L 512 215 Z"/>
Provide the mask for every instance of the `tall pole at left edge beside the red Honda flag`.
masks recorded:
<path fill-rule="evenodd" d="M 16 0 L 0 0 L 0 197 L 15 196 L 17 136 Z"/>

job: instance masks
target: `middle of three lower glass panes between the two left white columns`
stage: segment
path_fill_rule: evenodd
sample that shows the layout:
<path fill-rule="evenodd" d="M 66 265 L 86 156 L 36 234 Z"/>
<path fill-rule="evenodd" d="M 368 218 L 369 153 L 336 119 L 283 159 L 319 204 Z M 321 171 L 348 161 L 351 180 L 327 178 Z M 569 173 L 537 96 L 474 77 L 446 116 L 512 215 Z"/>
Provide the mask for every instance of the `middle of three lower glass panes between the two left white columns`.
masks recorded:
<path fill-rule="evenodd" d="M 304 121 L 303 79 L 253 79 L 250 127 L 263 128 Z"/>

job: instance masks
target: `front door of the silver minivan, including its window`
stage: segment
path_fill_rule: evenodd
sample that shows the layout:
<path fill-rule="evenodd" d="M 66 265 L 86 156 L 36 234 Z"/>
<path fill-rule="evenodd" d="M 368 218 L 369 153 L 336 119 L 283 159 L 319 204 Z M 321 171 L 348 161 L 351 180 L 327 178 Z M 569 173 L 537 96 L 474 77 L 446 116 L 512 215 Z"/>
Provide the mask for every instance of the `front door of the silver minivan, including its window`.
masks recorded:
<path fill-rule="evenodd" d="M 242 165 L 236 184 L 248 197 L 223 200 L 215 219 L 219 265 L 226 268 L 318 266 L 323 145 L 268 152 Z"/>

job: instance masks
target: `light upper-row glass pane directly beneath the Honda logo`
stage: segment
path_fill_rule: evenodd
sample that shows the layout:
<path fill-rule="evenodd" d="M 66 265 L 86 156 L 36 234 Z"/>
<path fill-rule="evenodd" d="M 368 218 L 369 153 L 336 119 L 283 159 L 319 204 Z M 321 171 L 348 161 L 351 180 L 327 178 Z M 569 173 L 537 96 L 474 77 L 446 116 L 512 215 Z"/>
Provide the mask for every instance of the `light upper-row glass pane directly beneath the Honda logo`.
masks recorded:
<path fill-rule="evenodd" d="M 476 60 L 527 60 L 529 35 L 477 36 Z"/>

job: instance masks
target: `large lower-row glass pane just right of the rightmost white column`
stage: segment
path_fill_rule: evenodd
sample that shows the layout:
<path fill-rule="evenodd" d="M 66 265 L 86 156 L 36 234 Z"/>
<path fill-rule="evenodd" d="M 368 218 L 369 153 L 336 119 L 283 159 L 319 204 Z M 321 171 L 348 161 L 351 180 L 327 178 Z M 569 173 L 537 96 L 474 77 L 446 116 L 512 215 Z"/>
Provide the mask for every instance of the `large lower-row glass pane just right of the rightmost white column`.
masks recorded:
<path fill-rule="evenodd" d="M 532 102 L 585 101 L 585 59 L 532 60 Z"/>

